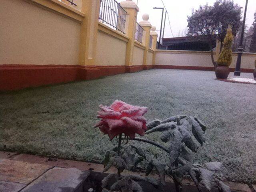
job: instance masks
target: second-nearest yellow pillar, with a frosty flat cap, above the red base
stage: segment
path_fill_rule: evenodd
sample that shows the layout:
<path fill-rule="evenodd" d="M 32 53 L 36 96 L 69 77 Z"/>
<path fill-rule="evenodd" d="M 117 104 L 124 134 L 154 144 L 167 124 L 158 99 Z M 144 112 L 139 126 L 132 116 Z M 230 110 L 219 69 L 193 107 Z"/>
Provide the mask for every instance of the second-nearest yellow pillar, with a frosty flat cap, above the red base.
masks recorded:
<path fill-rule="evenodd" d="M 126 29 L 125 34 L 129 37 L 129 41 L 126 46 L 126 66 L 132 66 L 134 40 L 136 32 L 137 13 L 139 11 L 138 6 L 132 0 L 126 0 L 120 3 L 122 8 L 126 10 L 128 16 L 126 17 Z"/>

